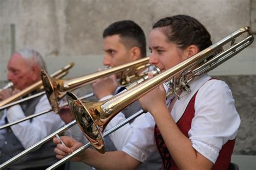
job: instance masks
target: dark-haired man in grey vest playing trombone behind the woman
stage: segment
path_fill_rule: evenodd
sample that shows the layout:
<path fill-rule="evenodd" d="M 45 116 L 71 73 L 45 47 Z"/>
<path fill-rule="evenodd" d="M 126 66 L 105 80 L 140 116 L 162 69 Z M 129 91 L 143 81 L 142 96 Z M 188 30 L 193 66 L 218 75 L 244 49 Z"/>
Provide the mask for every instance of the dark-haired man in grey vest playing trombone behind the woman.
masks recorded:
<path fill-rule="evenodd" d="M 133 21 L 127 20 L 112 23 L 104 30 L 103 39 L 103 49 L 105 51 L 103 64 L 105 66 L 115 67 L 146 56 L 146 39 L 144 32 L 140 26 Z M 117 78 L 120 78 L 120 74 L 102 78 L 93 83 L 93 93 L 100 101 L 109 99 L 120 91 Z M 106 130 L 109 130 L 111 127 L 117 125 L 139 110 L 140 106 L 136 101 L 136 103 L 126 107 L 125 110 L 114 117 L 106 126 Z M 144 115 L 139 119 L 143 119 L 143 116 Z M 69 121 L 66 121 L 66 123 Z M 107 151 L 121 151 L 132 134 L 134 127 L 136 127 L 136 124 L 126 124 L 112 133 L 110 137 L 105 138 Z M 138 169 L 161 169 L 159 153 L 152 154 Z"/>

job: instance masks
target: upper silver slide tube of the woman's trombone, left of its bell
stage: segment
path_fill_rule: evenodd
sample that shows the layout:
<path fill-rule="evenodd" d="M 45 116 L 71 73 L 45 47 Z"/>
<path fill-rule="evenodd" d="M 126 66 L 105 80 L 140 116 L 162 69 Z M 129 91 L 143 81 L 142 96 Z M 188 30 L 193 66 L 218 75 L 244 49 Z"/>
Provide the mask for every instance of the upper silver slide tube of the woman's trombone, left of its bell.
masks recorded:
<path fill-rule="evenodd" d="M 29 152 L 35 151 L 35 149 L 37 149 L 39 146 L 45 144 L 45 142 L 51 140 L 52 138 L 55 137 L 56 134 L 60 134 L 66 130 L 68 130 L 70 127 L 76 125 L 76 120 L 71 121 L 71 123 L 69 123 L 68 125 L 63 126 L 62 128 L 60 128 L 59 130 L 53 132 L 52 134 L 50 134 L 48 137 L 44 138 L 43 140 L 37 142 L 35 145 L 30 146 L 29 148 L 25 149 L 23 152 L 17 154 L 15 157 L 9 159 L 8 161 L 4 162 L 3 164 L 0 165 L 0 169 L 5 168 L 6 166 L 9 166 L 10 164 L 12 164 L 13 162 L 15 162 L 16 160 L 24 157 L 26 154 L 28 154 Z"/>

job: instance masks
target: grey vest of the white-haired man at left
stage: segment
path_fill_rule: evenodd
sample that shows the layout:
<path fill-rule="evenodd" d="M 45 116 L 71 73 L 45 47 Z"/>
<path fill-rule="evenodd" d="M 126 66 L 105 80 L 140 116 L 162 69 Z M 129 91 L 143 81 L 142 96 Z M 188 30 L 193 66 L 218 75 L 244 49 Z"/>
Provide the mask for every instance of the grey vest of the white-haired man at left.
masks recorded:
<path fill-rule="evenodd" d="M 37 97 L 21 105 L 22 110 L 26 116 L 31 115 L 35 112 L 36 105 L 38 104 L 40 99 L 41 97 Z M 55 146 L 56 145 L 53 144 L 52 141 L 46 142 L 46 144 L 36 149 L 36 151 L 30 152 L 25 157 L 12 163 L 8 168 L 23 169 L 43 167 L 48 165 L 50 166 L 57 161 L 57 159 L 55 158 L 55 153 L 53 152 Z M 0 159 L 1 164 L 9 160 L 10 158 L 14 157 L 18 153 L 24 151 L 24 147 L 22 146 L 18 138 L 15 136 L 15 134 L 12 132 L 11 128 L 8 128 L 6 130 L 4 145 L 3 147 L 0 148 L 0 151 L 2 153 Z"/>

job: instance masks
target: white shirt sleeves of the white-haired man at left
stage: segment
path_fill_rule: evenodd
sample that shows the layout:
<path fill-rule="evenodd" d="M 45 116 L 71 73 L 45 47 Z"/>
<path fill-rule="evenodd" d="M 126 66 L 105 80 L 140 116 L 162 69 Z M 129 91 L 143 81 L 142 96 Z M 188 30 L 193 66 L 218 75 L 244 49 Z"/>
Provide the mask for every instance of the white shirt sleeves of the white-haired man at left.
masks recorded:
<path fill-rule="evenodd" d="M 51 108 L 48 99 L 44 95 L 38 102 L 35 108 L 35 113 L 44 111 Z M 5 110 L 3 117 L 0 120 L 0 125 L 5 124 L 5 117 L 7 117 L 9 123 L 22 118 L 25 118 L 25 114 L 20 105 L 15 105 Z M 23 121 L 22 123 L 11 126 L 12 132 L 21 141 L 23 147 L 26 149 L 38 141 L 47 137 L 52 132 L 55 132 L 64 125 L 62 119 L 58 114 L 49 112 L 43 115 L 39 115 L 30 120 Z M 6 129 L 0 130 L 0 139 L 4 139 Z"/>

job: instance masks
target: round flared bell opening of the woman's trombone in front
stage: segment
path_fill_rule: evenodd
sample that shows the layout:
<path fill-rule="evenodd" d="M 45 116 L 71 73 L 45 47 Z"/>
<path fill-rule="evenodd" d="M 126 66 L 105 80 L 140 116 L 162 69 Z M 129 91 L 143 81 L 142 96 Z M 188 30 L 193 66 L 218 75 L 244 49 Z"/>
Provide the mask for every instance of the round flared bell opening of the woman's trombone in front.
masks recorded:
<path fill-rule="evenodd" d="M 95 147 L 97 151 L 105 153 L 102 130 L 100 130 L 100 127 L 97 126 L 93 119 L 95 112 L 87 110 L 83 102 L 72 92 L 66 93 L 66 99 L 77 124 L 83 131 L 85 137 L 91 142 L 92 146 Z M 95 117 L 97 116 L 95 115 Z"/>

